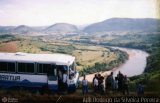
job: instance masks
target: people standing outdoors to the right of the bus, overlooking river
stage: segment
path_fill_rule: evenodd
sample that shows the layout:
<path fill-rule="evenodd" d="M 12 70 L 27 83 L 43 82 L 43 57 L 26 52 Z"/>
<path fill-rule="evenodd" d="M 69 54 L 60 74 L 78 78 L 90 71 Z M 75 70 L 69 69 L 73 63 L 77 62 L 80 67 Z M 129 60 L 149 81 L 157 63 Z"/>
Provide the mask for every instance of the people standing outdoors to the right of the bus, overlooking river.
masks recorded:
<path fill-rule="evenodd" d="M 106 78 L 104 78 L 101 74 L 95 74 L 92 81 L 93 93 L 97 94 L 110 94 L 115 92 L 120 92 L 122 94 L 129 95 L 129 78 L 127 75 L 123 75 L 120 71 L 116 77 L 113 76 L 113 72 L 110 73 Z M 137 93 L 143 93 L 143 86 L 141 84 L 137 87 Z M 86 76 L 82 80 L 82 93 L 88 93 L 88 81 L 86 80 Z"/>

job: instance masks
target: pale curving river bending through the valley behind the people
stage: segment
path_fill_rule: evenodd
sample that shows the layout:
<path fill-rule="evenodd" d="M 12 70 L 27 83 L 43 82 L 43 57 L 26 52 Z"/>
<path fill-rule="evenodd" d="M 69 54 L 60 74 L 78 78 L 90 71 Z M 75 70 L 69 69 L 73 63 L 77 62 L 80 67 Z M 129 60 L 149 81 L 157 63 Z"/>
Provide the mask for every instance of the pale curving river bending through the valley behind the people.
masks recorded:
<path fill-rule="evenodd" d="M 147 63 L 147 57 L 149 56 L 148 53 L 138 49 L 128 49 L 121 47 L 112 47 L 112 48 L 127 52 L 129 58 L 125 63 L 123 63 L 119 67 L 113 68 L 112 70 L 109 71 L 99 72 L 101 75 L 106 77 L 107 75 L 110 74 L 110 72 L 113 72 L 114 76 L 116 76 L 117 73 L 121 71 L 121 73 L 127 75 L 127 77 L 132 77 L 135 75 L 140 75 L 144 72 Z M 86 75 L 86 79 L 89 82 L 92 82 L 92 79 L 95 74 L 96 73 Z M 82 79 L 83 78 L 80 77 L 80 80 Z"/>

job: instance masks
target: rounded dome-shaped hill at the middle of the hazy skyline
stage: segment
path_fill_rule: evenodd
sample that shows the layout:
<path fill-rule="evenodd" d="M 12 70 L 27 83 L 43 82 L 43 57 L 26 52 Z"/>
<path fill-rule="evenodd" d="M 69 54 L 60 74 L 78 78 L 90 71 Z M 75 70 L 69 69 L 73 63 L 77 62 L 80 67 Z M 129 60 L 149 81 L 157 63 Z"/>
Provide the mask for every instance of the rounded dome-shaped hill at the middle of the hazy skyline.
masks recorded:
<path fill-rule="evenodd" d="M 78 28 L 75 25 L 67 23 L 56 23 L 47 27 L 45 32 L 77 32 Z"/>

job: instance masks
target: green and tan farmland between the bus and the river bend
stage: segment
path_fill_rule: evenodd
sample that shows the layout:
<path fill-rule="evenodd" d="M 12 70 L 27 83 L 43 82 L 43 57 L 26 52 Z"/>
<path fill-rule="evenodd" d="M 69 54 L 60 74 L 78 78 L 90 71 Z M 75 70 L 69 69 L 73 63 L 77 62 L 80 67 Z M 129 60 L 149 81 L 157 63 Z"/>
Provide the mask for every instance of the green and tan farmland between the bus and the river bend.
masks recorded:
<path fill-rule="evenodd" d="M 9 35 L 8 35 L 9 36 Z M 1 52 L 25 52 L 25 53 L 64 53 L 76 57 L 77 70 L 93 68 L 95 64 L 109 64 L 118 66 L 127 57 L 122 58 L 120 55 L 127 55 L 124 52 L 110 48 L 81 43 L 71 43 L 65 40 L 35 40 L 32 37 L 17 37 L 13 41 L 11 38 L 0 39 Z M 124 53 L 124 54 L 123 54 Z M 115 62 L 116 61 L 116 62 Z M 113 64 L 115 62 L 115 64 Z M 101 65 L 99 65 L 101 66 Z M 100 67 L 101 70 L 111 69 L 110 66 Z M 100 70 L 98 70 L 100 71 Z"/>

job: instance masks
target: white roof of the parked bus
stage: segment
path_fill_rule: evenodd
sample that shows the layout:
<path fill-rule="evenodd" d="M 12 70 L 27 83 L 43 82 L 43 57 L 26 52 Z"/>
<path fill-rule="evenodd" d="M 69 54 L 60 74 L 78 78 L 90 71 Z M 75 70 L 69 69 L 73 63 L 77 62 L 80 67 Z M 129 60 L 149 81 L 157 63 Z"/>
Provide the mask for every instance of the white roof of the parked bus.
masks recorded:
<path fill-rule="evenodd" d="M 0 61 L 8 62 L 40 62 L 57 65 L 71 65 L 75 57 L 67 54 L 30 54 L 30 53 L 0 53 Z"/>

